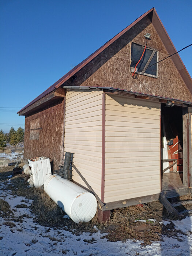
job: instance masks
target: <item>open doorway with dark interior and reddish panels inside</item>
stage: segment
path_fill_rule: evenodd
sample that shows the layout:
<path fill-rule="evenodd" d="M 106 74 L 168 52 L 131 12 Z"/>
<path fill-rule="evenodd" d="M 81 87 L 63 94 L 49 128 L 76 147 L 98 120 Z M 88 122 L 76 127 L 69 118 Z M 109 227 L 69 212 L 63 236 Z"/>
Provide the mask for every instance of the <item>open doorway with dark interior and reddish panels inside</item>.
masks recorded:
<path fill-rule="evenodd" d="M 183 188 L 182 108 L 161 104 L 162 191 Z"/>

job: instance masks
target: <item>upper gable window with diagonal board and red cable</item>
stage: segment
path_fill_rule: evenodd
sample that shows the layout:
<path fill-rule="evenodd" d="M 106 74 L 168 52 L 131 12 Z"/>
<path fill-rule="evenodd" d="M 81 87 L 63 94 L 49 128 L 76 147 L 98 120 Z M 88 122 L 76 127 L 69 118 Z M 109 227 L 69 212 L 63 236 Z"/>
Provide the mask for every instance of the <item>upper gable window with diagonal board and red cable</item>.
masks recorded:
<path fill-rule="evenodd" d="M 144 51 L 144 46 L 135 43 L 131 44 L 131 72 L 134 72 L 135 65 L 138 63 Z M 142 59 L 136 67 L 136 72 L 142 75 L 153 76 L 158 75 L 158 52 L 157 50 L 146 48 Z M 154 65 L 153 65 L 154 64 Z"/>

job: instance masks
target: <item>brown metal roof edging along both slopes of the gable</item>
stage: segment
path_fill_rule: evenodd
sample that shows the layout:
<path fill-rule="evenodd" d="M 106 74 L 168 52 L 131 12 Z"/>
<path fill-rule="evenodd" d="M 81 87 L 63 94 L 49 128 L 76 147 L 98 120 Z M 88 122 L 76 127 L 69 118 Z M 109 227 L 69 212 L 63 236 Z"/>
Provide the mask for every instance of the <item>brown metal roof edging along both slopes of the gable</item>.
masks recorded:
<path fill-rule="evenodd" d="M 131 27 L 133 27 L 136 23 L 138 23 L 140 20 L 142 20 L 145 16 L 148 14 L 153 13 L 152 23 L 157 30 L 157 33 L 162 39 L 163 44 L 165 45 L 165 48 L 167 49 L 167 52 L 169 54 L 173 54 L 174 52 L 177 52 L 175 49 L 169 35 L 167 34 L 165 27 L 163 26 L 161 20 L 159 19 L 159 16 L 153 7 L 149 11 L 145 12 L 142 16 L 140 16 L 138 19 L 136 19 L 131 25 L 126 27 L 124 30 L 122 30 L 120 33 L 118 33 L 116 36 L 114 36 L 112 39 L 110 39 L 108 42 L 106 42 L 103 46 L 101 46 L 98 50 L 96 50 L 94 53 L 92 53 L 89 57 L 87 57 L 85 60 L 83 60 L 80 64 L 75 66 L 73 69 L 71 69 L 67 74 L 65 74 L 62 78 L 60 78 L 56 83 L 54 83 L 52 86 L 50 86 L 47 90 L 45 90 L 42 94 L 40 94 L 37 98 L 35 98 L 33 101 L 31 101 L 29 104 L 27 104 L 24 108 L 19 110 L 18 113 L 22 112 L 24 109 L 41 99 L 42 97 L 46 96 L 47 94 L 51 93 L 52 91 L 59 88 L 64 82 L 66 82 L 69 78 L 71 78 L 73 75 L 76 74 L 80 69 L 82 69 L 85 65 L 87 65 L 91 60 L 93 60 L 99 53 L 101 53 L 103 50 L 105 50 L 110 44 L 112 44 L 114 41 L 116 41 L 121 35 L 123 35 L 125 32 L 127 32 Z M 171 57 L 176 68 L 178 69 L 178 72 L 180 73 L 182 79 L 184 80 L 186 86 L 188 87 L 189 91 L 192 94 L 192 79 L 189 75 L 187 69 L 185 68 L 185 65 L 183 64 L 180 56 L 175 54 Z"/>

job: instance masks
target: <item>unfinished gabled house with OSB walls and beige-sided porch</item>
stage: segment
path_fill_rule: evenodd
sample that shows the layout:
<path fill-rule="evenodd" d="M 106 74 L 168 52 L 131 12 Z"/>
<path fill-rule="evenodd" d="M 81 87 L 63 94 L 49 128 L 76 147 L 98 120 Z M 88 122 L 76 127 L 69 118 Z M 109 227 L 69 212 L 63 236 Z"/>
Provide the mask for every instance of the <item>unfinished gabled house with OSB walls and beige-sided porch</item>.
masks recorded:
<path fill-rule="evenodd" d="M 176 52 L 156 10 L 147 11 L 18 112 L 24 157 L 49 157 L 56 170 L 64 151 L 74 153 L 104 203 L 102 219 L 160 194 L 187 194 L 192 79 L 178 53 L 169 57 Z"/>

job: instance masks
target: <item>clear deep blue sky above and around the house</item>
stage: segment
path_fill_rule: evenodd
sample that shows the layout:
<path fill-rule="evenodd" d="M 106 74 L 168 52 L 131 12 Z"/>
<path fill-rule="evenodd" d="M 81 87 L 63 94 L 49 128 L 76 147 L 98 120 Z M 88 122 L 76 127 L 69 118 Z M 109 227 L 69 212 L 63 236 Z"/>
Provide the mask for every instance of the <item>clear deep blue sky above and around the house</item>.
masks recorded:
<path fill-rule="evenodd" d="M 177 50 L 192 43 L 191 0 L 0 0 L 0 129 L 16 112 L 155 7 Z M 192 46 L 180 53 L 192 76 Z"/>

